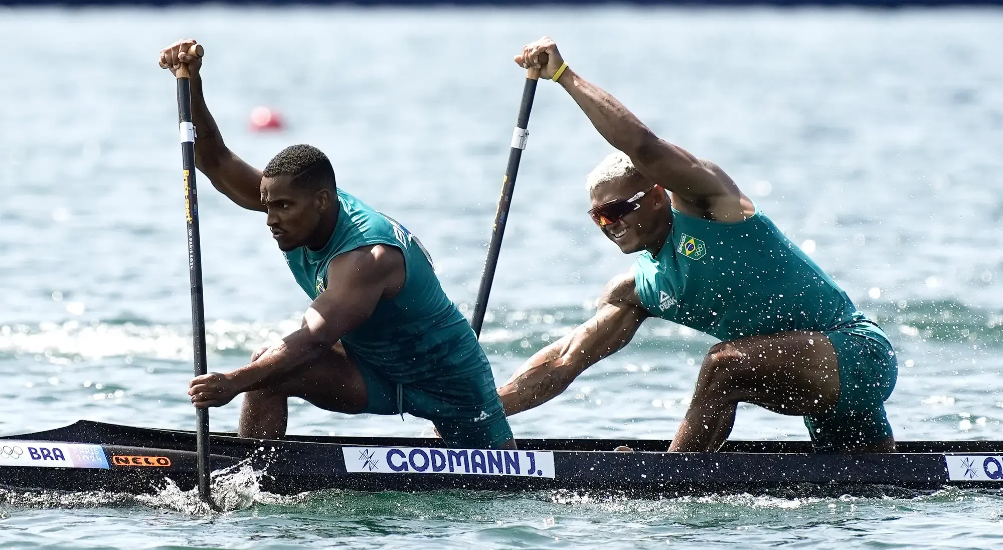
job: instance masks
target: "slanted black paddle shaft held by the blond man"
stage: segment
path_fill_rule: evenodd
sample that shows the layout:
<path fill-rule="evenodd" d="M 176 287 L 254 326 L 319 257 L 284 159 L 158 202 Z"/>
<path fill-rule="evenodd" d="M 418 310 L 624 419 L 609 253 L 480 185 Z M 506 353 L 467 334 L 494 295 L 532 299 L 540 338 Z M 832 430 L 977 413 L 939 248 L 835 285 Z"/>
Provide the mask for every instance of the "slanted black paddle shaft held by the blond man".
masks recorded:
<path fill-rule="evenodd" d="M 477 301 L 473 306 L 473 318 L 470 320 L 470 325 L 477 337 L 480 336 L 480 328 L 484 324 L 484 313 L 487 312 L 487 298 L 491 293 L 494 270 L 498 265 L 501 238 L 505 237 L 505 226 L 509 221 L 509 209 L 512 207 L 512 194 L 516 189 L 519 162 L 523 159 L 523 150 L 526 149 L 526 140 L 529 135 L 526 128 L 530 123 L 530 111 L 533 110 L 533 97 L 537 92 L 539 78 L 540 69 L 531 68 L 526 73 L 523 100 L 519 105 L 519 118 L 516 120 L 516 130 L 513 132 L 512 149 L 509 150 L 509 165 L 506 167 L 505 180 L 501 182 L 501 197 L 498 198 L 498 209 L 494 213 L 491 241 L 487 245 L 487 260 L 484 262 L 484 272 L 480 276 L 480 288 L 477 290 Z"/>

